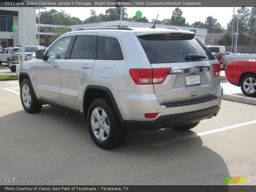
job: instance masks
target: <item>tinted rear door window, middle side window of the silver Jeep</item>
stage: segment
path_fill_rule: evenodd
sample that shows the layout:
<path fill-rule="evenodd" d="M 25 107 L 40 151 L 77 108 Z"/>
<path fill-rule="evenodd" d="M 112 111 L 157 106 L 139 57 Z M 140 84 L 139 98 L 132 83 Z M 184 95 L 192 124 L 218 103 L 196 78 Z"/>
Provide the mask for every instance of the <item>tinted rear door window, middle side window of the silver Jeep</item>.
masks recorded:
<path fill-rule="evenodd" d="M 70 59 L 95 60 L 96 36 L 81 35 L 77 36 Z"/>

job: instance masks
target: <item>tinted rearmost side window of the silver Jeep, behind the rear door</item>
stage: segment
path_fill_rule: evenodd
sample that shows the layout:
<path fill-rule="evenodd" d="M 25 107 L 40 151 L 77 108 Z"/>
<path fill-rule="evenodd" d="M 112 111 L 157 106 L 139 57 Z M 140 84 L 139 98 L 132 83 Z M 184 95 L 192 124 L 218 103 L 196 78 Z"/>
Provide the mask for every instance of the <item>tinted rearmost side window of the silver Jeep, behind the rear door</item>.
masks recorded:
<path fill-rule="evenodd" d="M 122 48 L 116 37 L 98 36 L 97 60 L 124 60 Z"/>

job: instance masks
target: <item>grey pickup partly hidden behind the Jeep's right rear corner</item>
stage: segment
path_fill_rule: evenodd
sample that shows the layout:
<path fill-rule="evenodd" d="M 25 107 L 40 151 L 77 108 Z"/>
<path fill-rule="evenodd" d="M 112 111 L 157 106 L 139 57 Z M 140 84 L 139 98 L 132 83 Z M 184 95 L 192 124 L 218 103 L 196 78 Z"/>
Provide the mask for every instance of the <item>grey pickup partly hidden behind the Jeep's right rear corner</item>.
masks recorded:
<path fill-rule="evenodd" d="M 220 62 L 221 69 L 225 70 L 226 68 L 225 57 L 227 53 L 225 46 L 208 45 L 206 47 L 210 50 L 210 52 L 212 52 L 214 57 L 216 57 L 216 59 Z"/>

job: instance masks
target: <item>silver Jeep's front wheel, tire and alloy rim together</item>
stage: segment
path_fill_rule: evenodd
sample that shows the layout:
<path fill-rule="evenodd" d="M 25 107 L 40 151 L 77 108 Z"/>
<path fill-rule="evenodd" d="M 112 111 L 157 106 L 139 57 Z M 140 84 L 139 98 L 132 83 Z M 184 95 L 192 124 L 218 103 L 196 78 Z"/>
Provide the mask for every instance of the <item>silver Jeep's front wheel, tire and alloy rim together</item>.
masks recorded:
<path fill-rule="evenodd" d="M 28 79 L 23 79 L 20 84 L 20 100 L 23 108 L 28 113 L 36 113 L 42 109 L 42 104 L 36 100 Z"/>

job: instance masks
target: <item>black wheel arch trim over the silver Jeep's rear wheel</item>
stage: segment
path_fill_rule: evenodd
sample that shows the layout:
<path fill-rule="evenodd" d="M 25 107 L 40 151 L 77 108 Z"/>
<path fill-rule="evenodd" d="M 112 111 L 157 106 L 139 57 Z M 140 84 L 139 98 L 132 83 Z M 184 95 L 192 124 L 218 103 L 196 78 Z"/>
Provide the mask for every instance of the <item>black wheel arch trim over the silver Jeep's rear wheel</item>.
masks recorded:
<path fill-rule="evenodd" d="M 116 100 L 112 92 L 107 87 L 100 85 L 88 85 L 84 91 L 83 112 L 85 118 L 87 118 L 87 112 L 91 102 L 99 97 L 107 97 L 111 102 L 112 106 L 114 107 L 118 119 L 123 120 L 123 117 L 119 111 L 119 108 L 116 104 Z"/>

